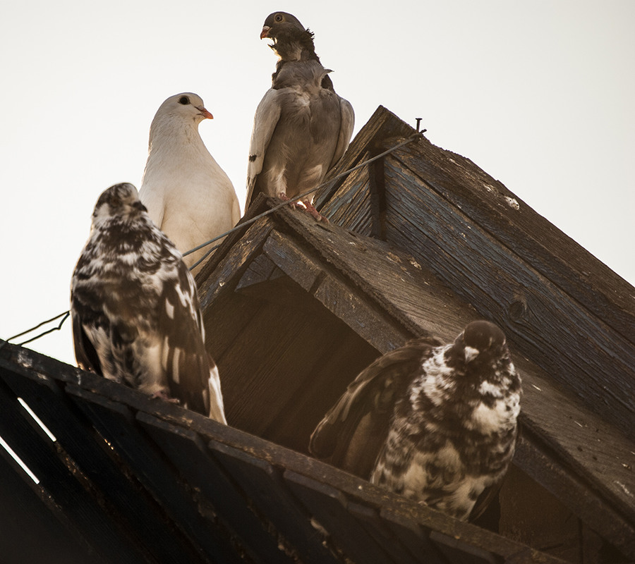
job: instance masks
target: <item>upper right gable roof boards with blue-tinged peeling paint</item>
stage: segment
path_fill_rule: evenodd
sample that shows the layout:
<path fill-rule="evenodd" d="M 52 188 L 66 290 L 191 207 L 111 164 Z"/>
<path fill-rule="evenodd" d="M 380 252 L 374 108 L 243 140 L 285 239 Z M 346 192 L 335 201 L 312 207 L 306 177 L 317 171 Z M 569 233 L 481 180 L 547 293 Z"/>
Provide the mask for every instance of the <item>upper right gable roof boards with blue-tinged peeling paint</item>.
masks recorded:
<path fill-rule="evenodd" d="M 377 109 L 351 144 L 349 163 L 377 145 L 394 145 L 396 130 L 413 133 Z M 385 157 L 381 173 L 387 240 L 430 267 L 480 316 L 502 324 L 525 355 L 635 438 L 635 288 L 502 183 L 425 138 Z M 337 209 L 343 194 L 364 197 L 353 190 L 371 194 L 373 183 L 344 180 L 320 204 Z M 334 219 L 349 228 L 355 221 Z"/>

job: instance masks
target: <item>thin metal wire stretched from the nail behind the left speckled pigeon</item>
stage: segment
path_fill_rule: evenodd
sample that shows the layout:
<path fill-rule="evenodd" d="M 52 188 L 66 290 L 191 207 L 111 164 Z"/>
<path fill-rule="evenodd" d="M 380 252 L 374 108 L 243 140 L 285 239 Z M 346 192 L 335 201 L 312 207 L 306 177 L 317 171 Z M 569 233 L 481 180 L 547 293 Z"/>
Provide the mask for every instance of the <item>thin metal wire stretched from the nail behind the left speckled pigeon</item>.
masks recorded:
<path fill-rule="evenodd" d="M 417 125 L 419 125 L 419 124 L 417 123 Z M 418 130 L 418 127 L 417 127 L 417 130 Z M 193 249 L 190 249 L 190 250 L 184 252 L 183 253 L 183 257 L 186 257 L 187 255 L 191 255 L 191 253 L 196 252 L 196 251 L 198 251 L 198 250 L 200 250 L 200 249 L 202 249 L 204 247 L 207 247 L 207 245 L 211 245 L 215 241 L 226 237 L 230 233 L 234 233 L 234 231 L 238 231 L 238 229 L 242 229 L 243 227 L 251 225 L 251 223 L 255 223 L 259 219 L 262 219 L 263 217 L 268 216 L 269 214 L 272 214 L 273 212 L 277 211 L 278 209 L 280 209 L 280 208 L 282 208 L 282 207 L 284 207 L 286 205 L 289 205 L 289 203 L 298 202 L 298 200 L 302 200 L 304 197 L 312 194 L 313 192 L 317 192 L 317 190 L 320 190 L 320 188 L 322 188 L 323 186 L 326 186 L 326 185 L 328 185 L 330 183 L 333 183 L 336 180 L 339 180 L 340 178 L 343 178 L 344 176 L 348 176 L 351 172 L 354 172 L 354 171 L 358 170 L 359 168 L 362 168 L 363 166 L 366 166 L 366 165 L 372 163 L 373 161 L 376 161 L 377 159 L 381 159 L 382 157 L 385 157 L 387 154 L 390 154 L 393 151 L 395 151 L 396 149 L 399 149 L 399 147 L 403 147 L 404 145 L 407 145 L 410 142 L 413 142 L 413 141 L 415 141 L 417 139 L 420 139 L 421 137 L 423 137 L 423 134 L 425 133 L 425 131 L 426 131 L 425 129 L 421 130 L 421 131 L 417 131 L 417 133 L 415 133 L 414 135 L 411 135 L 410 137 L 408 137 L 408 139 L 402 141 L 401 143 L 399 143 L 397 145 L 394 145 L 394 147 L 391 147 L 390 149 L 387 149 L 386 151 L 375 155 L 375 157 L 367 159 L 367 160 L 361 162 L 360 164 L 358 164 L 356 166 L 353 166 L 353 168 L 349 168 L 348 170 L 337 174 L 333 178 L 329 178 L 329 180 L 326 180 L 325 182 L 321 183 L 320 185 L 317 185 L 315 188 L 311 188 L 310 190 L 307 190 L 306 192 L 303 192 L 301 195 L 298 195 L 297 197 L 295 197 L 294 200 L 291 200 L 291 202 L 288 202 L 288 201 L 281 202 L 280 204 L 277 204 L 274 207 L 271 207 L 270 209 L 267 209 L 265 212 L 262 212 L 262 214 L 258 214 L 257 216 L 254 216 L 251 219 L 248 219 L 247 221 L 243 221 L 243 223 L 239 223 L 236 227 L 231 228 L 229 231 L 225 231 L 225 233 L 222 233 L 221 235 L 218 235 L 217 237 L 214 237 L 213 239 L 210 239 L 206 243 L 202 243 L 201 245 L 198 245 L 198 247 L 194 247 Z M 216 250 L 218 247 L 220 247 L 220 243 L 218 245 L 214 245 L 214 247 L 212 247 L 210 250 L 208 250 L 205 253 L 205 255 L 203 255 L 200 259 L 198 259 L 198 261 L 195 262 L 190 267 L 190 270 L 195 269 L 196 266 L 198 266 L 207 257 L 209 257 L 210 254 L 214 250 Z M 40 327 L 42 325 L 46 325 L 47 323 L 51 323 L 52 321 L 55 321 L 56 319 L 59 319 L 60 317 L 62 317 L 63 319 L 59 322 L 58 326 L 53 327 L 52 329 L 47 329 L 47 331 L 44 331 L 43 333 L 40 333 L 40 335 L 36 335 L 35 337 L 32 337 L 32 338 L 28 339 L 27 341 L 23 341 L 22 343 L 18 343 L 18 345 L 22 346 L 22 345 L 25 345 L 26 343 L 31 343 L 32 341 L 35 341 L 36 339 L 39 339 L 40 337 L 43 337 L 44 335 L 48 335 L 49 333 L 52 333 L 53 331 L 59 331 L 59 330 L 61 330 L 62 325 L 64 324 L 64 321 L 66 321 L 66 319 L 68 319 L 68 317 L 70 315 L 71 315 L 71 312 L 66 311 L 66 312 L 63 312 L 63 313 L 61 313 L 59 315 L 56 315 L 55 317 L 52 317 L 51 319 L 47 319 L 47 321 L 42 321 L 42 323 L 37 324 L 35 327 L 32 327 L 31 329 L 27 329 L 26 331 L 23 331 L 22 333 L 18 333 L 17 335 L 14 335 L 13 337 L 9 337 L 4 343 L 0 344 L 0 348 L 4 347 L 4 345 L 6 345 L 6 343 L 8 343 L 9 341 L 13 341 L 13 339 L 16 339 L 18 337 L 26 335 L 27 333 L 31 333 L 32 331 L 35 331 L 36 329 L 40 329 Z"/>

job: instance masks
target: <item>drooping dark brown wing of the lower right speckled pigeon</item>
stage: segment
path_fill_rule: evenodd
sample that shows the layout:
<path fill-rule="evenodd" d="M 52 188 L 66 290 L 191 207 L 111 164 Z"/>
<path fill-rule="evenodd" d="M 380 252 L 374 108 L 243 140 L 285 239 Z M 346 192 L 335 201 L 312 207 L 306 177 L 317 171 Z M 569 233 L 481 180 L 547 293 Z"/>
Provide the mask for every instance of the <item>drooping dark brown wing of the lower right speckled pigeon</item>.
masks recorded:
<path fill-rule="evenodd" d="M 440 344 L 418 338 L 365 368 L 311 434 L 310 452 L 368 479 L 386 441 L 395 401 Z"/>

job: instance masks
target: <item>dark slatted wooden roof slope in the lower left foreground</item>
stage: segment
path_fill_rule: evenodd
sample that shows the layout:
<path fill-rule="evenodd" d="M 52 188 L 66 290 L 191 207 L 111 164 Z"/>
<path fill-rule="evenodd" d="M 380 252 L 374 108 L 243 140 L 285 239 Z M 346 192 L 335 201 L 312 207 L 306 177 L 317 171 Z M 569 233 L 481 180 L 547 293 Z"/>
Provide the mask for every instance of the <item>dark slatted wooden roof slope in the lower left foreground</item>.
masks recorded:
<path fill-rule="evenodd" d="M 50 480 L 43 472 L 42 487 L 68 517 L 62 527 L 71 527 L 94 551 L 91 561 L 156 564 L 171 553 L 169 561 L 189 563 L 284 563 L 298 557 L 365 563 L 382 554 L 387 557 L 382 562 L 401 562 L 407 555 L 413 562 L 449 564 L 454 561 L 448 559 L 449 547 L 470 564 L 562 562 L 198 413 L 2 345 L 6 409 L 0 434 L 38 470 L 61 470 Z M 18 413 L 18 394 L 56 435 L 56 443 L 46 446 L 32 419 Z M 75 450 L 73 441 L 83 448 Z M 109 484 L 91 470 L 95 456 L 128 499 L 108 501 Z M 73 472 L 65 470 L 71 467 Z M 159 519 L 161 539 L 136 523 L 143 515 Z M 314 527 L 318 515 L 326 538 Z M 331 515 L 337 515 L 337 528 Z M 381 537 L 373 534 L 377 531 Z"/>

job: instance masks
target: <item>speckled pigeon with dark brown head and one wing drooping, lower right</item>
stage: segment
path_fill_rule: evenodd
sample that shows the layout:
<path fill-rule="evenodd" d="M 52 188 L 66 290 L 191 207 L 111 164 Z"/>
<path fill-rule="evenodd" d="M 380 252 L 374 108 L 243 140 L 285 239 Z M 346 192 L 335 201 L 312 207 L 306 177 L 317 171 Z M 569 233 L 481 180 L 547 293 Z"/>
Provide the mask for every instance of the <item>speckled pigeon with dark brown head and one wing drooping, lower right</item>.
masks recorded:
<path fill-rule="evenodd" d="M 461 520 L 482 513 L 516 445 L 521 379 L 502 331 L 420 338 L 370 364 L 317 426 L 311 452 Z"/>

